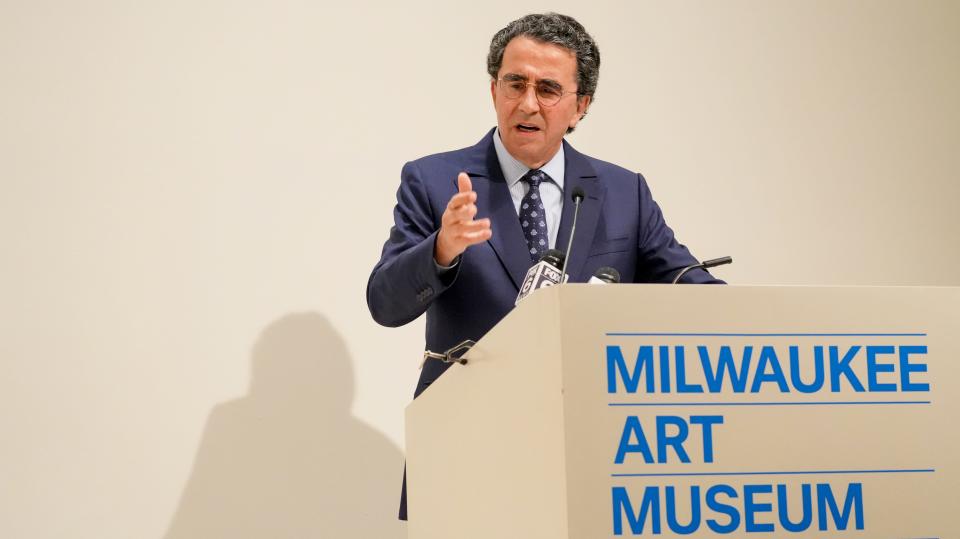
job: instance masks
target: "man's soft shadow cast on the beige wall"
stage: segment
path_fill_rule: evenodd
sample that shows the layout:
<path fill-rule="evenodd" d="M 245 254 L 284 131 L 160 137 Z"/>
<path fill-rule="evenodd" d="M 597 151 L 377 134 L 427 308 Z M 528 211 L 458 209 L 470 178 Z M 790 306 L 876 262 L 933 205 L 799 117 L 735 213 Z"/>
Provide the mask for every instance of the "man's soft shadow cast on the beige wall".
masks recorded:
<path fill-rule="evenodd" d="M 353 368 L 316 313 L 270 324 L 249 394 L 210 413 L 167 539 L 401 538 L 403 456 L 350 413 Z"/>

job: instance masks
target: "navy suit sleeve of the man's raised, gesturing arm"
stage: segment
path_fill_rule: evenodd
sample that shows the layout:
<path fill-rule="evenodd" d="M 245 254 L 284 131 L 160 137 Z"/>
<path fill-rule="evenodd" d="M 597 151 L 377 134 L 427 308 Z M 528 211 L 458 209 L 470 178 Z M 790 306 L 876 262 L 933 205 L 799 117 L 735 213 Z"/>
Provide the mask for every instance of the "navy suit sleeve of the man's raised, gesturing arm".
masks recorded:
<path fill-rule="evenodd" d="M 446 200 L 431 200 L 417 163 L 404 165 L 390 237 L 367 281 L 367 307 L 378 324 L 397 327 L 415 320 L 456 280 L 459 264 L 441 275 L 433 258 L 438 211 L 445 206 Z"/>

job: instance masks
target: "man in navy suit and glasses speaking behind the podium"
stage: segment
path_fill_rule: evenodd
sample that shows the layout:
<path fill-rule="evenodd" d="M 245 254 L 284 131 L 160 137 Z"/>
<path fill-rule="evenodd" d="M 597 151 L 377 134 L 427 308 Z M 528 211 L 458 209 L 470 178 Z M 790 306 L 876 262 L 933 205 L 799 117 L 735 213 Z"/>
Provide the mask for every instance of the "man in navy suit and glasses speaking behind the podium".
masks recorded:
<path fill-rule="evenodd" d="M 510 309 L 529 267 L 565 248 L 571 282 L 602 266 L 625 282 L 670 282 L 696 263 L 666 225 L 643 176 L 587 157 L 563 140 L 593 99 L 600 53 L 571 17 L 528 15 L 490 43 L 497 127 L 475 146 L 407 163 L 394 226 L 367 283 L 374 319 L 400 326 L 427 313 L 426 348 L 477 340 Z M 704 270 L 685 283 L 719 283 Z M 449 364 L 429 361 L 414 398 Z M 401 501 L 400 518 L 406 519 Z"/>

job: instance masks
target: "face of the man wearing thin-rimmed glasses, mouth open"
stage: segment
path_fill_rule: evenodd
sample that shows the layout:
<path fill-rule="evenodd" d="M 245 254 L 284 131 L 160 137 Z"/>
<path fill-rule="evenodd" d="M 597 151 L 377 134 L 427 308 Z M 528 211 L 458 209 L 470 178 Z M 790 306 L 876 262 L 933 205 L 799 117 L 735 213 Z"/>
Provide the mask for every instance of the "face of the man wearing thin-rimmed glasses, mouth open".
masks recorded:
<path fill-rule="evenodd" d="M 589 96 L 576 95 L 576 55 L 559 45 L 516 37 L 507 43 L 497 78 L 530 83 L 514 99 L 505 95 L 497 81 L 490 84 L 490 92 L 507 151 L 528 167 L 540 168 L 560 149 L 567 128 L 577 125 L 590 104 Z M 537 100 L 537 84 L 556 85 L 563 96 L 545 107 Z"/>

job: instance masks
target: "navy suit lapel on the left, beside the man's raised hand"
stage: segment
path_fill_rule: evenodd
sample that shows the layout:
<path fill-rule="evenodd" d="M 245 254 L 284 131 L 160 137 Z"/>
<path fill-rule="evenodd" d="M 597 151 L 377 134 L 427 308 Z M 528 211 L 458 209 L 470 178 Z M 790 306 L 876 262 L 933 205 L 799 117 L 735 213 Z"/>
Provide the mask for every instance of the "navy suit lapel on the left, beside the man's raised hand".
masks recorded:
<path fill-rule="evenodd" d="M 494 131 L 490 131 L 474 146 L 468 157 L 466 170 L 470 174 L 473 190 L 477 193 L 477 219 L 490 218 L 492 237 L 487 243 L 497 254 L 517 290 L 520 290 L 523 278 L 532 263 L 510 189 L 497 160 L 493 133 Z"/>

